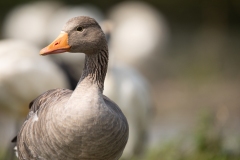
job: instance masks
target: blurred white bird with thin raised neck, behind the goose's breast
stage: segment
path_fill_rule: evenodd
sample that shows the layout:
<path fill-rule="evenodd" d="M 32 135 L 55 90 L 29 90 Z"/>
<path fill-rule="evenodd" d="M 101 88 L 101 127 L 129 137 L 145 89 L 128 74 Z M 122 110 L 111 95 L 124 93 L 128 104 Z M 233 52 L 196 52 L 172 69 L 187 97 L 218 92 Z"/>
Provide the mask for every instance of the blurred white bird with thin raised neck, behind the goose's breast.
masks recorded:
<path fill-rule="evenodd" d="M 141 156 L 148 142 L 148 129 L 151 121 L 151 94 L 147 80 L 133 67 L 116 63 L 111 45 L 113 24 L 104 21 L 102 28 L 109 37 L 110 60 L 105 78 L 104 94 L 114 100 L 125 114 L 129 124 L 129 139 L 122 158 Z M 125 37 L 126 39 L 128 36 Z M 132 42 L 133 43 L 133 42 Z"/>

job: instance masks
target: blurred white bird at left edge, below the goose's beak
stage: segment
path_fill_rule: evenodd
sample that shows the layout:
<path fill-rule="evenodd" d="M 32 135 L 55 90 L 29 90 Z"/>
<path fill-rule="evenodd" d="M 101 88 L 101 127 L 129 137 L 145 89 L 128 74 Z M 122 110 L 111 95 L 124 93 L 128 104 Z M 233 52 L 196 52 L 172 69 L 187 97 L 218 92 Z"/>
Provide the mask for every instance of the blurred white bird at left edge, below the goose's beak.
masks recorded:
<path fill-rule="evenodd" d="M 34 45 L 19 40 L 0 41 L 0 147 L 16 134 L 29 102 L 43 91 L 68 87 L 64 73 Z"/>

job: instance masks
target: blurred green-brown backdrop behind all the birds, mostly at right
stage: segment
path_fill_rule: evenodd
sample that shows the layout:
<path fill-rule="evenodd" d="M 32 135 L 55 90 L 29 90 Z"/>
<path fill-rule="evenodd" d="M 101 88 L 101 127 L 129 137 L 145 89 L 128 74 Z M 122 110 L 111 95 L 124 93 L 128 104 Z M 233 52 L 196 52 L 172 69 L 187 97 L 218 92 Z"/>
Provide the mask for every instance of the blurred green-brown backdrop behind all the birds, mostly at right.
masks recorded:
<path fill-rule="evenodd" d="M 1 24 L 14 7 L 29 2 L 0 1 Z M 61 2 L 95 5 L 108 17 L 124 1 Z M 240 1 L 143 2 L 161 13 L 169 33 L 164 50 L 137 68 L 151 84 L 154 114 L 146 150 L 130 159 L 239 160 Z M 13 159 L 11 147 L 0 151 L 1 160 Z"/>

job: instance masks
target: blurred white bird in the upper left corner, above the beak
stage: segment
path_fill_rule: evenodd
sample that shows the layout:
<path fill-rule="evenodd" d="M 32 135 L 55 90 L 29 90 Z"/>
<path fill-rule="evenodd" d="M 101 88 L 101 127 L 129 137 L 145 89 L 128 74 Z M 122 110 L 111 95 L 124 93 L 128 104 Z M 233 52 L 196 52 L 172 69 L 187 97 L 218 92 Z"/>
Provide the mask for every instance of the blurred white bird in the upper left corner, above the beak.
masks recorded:
<path fill-rule="evenodd" d="M 61 6 L 57 1 L 35 1 L 13 8 L 3 22 L 3 37 L 21 39 L 42 47 L 47 43 L 51 15 Z"/>

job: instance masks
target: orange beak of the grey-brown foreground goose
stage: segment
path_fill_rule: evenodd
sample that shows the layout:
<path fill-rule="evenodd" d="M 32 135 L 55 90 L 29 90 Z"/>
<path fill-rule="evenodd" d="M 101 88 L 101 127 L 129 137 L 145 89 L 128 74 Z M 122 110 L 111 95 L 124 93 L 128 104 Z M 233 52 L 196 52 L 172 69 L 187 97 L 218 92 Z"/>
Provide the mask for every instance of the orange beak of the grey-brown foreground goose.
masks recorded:
<path fill-rule="evenodd" d="M 61 32 L 51 44 L 40 51 L 40 55 L 68 52 L 69 49 L 70 46 L 68 45 L 68 34 L 66 32 Z"/>

